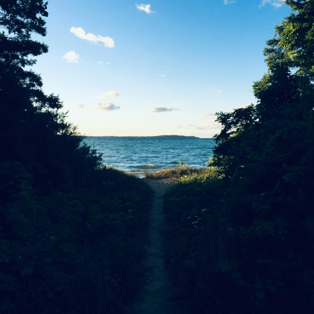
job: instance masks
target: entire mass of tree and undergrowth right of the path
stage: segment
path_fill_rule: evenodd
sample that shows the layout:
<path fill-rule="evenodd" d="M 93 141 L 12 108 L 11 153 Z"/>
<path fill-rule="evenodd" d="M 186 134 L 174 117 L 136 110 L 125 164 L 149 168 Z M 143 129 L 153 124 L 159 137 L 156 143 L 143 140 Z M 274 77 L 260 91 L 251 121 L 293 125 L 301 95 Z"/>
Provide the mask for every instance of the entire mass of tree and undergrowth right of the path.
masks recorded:
<path fill-rule="evenodd" d="M 218 113 L 211 172 L 166 196 L 167 262 L 193 313 L 314 312 L 314 0 L 285 2 L 257 105 Z"/>

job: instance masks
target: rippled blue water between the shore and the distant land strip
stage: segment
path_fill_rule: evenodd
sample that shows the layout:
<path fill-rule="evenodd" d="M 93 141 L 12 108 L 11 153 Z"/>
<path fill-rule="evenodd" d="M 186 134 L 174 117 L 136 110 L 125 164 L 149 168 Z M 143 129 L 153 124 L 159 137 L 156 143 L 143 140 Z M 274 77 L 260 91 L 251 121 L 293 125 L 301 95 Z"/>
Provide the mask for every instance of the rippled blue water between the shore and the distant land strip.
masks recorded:
<path fill-rule="evenodd" d="M 215 145 L 212 138 L 125 138 L 89 137 L 84 142 L 103 154 L 106 166 L 131 172 L 139 177 L 179 165 L 179 158 L 190 166 L 205 167 Z"/>

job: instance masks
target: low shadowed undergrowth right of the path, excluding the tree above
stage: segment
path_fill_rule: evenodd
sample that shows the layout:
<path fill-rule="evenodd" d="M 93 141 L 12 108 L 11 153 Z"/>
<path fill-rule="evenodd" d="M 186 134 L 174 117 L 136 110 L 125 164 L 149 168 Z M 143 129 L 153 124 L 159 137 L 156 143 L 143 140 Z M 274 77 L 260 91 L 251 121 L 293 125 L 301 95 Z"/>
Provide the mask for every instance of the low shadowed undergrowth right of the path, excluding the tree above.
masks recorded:
<path fill-rule="evenodd" d="M 200 314 L 313 309 L 313 218 L 243 216 L 252 196 L 235 190 L 216 173 L 183 177 L 165 195 L 166 264 L 178 300 Z"/>

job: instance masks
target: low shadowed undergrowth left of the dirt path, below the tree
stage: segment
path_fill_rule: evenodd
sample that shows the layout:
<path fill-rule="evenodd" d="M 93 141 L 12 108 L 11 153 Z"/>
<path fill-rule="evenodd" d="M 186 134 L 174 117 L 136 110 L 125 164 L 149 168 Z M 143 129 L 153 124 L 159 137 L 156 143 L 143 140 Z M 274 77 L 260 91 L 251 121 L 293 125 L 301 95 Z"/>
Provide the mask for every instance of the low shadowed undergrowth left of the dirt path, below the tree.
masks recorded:
<path fill-rule="evenodd" d="M 122 312 L 143 277 L 148 186 L 104 169 L 38 196 L 21 164 L 0 177 L 12 196 L 0 207 L 0 312 Z"/>

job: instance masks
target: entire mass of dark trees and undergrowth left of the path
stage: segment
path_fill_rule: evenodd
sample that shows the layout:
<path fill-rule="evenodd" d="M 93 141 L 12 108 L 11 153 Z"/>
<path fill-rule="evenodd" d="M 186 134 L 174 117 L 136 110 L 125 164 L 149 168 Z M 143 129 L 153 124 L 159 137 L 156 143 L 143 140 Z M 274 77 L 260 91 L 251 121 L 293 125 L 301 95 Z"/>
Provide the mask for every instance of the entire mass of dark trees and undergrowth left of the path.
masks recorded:
<path fill-rule="evenodd" d="M 43 0 L 0 0 L 0 313 L 125 312 L 151 191 L 106 169 L 29 70 L 47 16 Z"/>

